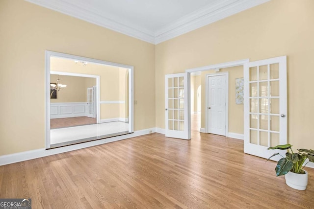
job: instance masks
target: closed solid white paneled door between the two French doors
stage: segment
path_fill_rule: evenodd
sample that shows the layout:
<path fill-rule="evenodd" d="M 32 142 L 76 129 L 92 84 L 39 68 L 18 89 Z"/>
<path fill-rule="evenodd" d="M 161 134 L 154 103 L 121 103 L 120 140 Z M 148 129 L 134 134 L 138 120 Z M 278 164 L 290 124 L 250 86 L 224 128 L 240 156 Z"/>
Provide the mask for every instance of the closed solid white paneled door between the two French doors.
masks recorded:
<path fill-rule="evenodd" d="M 226 75 L 207 75 L 207 130 L 226 136 Z"/>

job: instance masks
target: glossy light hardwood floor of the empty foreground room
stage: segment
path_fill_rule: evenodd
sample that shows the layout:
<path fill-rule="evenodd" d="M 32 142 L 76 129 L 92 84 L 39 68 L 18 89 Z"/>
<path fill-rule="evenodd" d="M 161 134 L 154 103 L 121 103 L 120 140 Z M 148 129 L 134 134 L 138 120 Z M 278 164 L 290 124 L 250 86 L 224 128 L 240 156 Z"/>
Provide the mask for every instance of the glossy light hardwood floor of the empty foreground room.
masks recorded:
<path fill-rule="evenodd" d="M 275 176 L 275 162 L 243 153 L 243 141 L 192 131 L 150 134 L 0 166 L 0 198 L 37 208 L 314 208 L 307 190 Z"/>

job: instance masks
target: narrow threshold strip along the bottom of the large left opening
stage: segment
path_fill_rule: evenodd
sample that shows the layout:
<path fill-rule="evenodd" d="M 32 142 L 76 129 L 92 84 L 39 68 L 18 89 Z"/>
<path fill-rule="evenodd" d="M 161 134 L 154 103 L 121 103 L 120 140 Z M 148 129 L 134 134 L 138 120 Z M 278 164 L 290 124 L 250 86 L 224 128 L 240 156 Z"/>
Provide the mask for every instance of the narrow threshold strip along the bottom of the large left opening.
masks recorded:
<path fill-rule="evenodd" d="M 51 144 L 50 148 L 48 148 L 46 150 L 64 147 L 64 146 L 70 146 L 70 145 L 74 145 L 74 144 L 85 143 L 85 142 L 89 142 L 89 141 L 100 140 L 100 139 L 118 137 L 118 136 L 127 135 L 127 134 L 132 134 L 132 133 L 129 131 L 123 131 L 123 132 L 119 132 L 119 133 L 107 134 L 107 135 L 102 135 L 102 136 L 97 136 L 97 137 L 90 137 L 90 138 L 85 138 L 85 139 L 65 141 L 65 142 L 61 142 L 61 143 Z"/>

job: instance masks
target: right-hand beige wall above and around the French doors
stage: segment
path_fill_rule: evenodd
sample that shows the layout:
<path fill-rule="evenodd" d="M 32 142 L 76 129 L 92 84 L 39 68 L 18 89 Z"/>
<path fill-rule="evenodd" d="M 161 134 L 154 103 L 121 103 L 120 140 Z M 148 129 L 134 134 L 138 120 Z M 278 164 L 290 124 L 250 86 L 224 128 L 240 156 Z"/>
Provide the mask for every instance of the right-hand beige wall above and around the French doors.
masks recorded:
<path fill-rule="evenodd" d="M 255 61 L 287 55 L 288 142 L 296 148 L 313 148 L 314 98 L 308 91 L 314 78 L 313 11 L 313 0 L 272 0 L 158 44 L 156 126 L 165 127 L 165 74 L 246 58 Z"/>

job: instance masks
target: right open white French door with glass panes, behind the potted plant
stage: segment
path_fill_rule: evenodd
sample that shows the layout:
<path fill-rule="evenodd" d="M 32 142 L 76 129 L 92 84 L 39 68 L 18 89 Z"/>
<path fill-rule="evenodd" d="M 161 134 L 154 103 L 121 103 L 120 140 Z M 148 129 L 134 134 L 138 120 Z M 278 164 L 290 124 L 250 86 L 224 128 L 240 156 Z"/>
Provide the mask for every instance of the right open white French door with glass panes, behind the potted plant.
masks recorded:
<path fill-rule="evenodd" d="M 286 143 L 287 57 L 244 64 L 244 152 L 269 158 Z"/>

